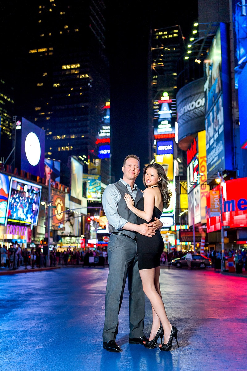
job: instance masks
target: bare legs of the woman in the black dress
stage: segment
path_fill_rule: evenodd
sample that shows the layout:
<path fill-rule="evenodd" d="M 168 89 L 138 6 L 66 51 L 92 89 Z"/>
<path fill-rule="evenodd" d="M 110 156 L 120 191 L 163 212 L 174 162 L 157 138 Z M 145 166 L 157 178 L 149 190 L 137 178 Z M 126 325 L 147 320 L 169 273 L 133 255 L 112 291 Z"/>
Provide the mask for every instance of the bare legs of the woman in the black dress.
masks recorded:
<path fill-rule="evenodd" d="M 160 319 L 160 322 L 163 326 L 164 343 L 166 344 L 170 338 L 171 324 L 167 318 L 166 310 L 165 310 L 164 303 L 161 297 L 160 285 L 158 282 L 160 267 L 158 267 L 158 269 L 157 268 L 141 269 L 139 272 L 140 272 L 141 281 L 143 285 L 143 291 L 147 295 L 148 299 L 150 300 L 152 308 L 154 309 L 154 312 L 156 313 L 157 317 Z M 155 326 L 158 326 L 159 328 L 157 317 L 154 316 L 154 321 L 155 321 Z M 153 335 L 153 338 L 156 335 L 158 328 L 156 329 L 156 332 Z M 154 330 L 153 326 L 152 326 L 152 330 Z"/>

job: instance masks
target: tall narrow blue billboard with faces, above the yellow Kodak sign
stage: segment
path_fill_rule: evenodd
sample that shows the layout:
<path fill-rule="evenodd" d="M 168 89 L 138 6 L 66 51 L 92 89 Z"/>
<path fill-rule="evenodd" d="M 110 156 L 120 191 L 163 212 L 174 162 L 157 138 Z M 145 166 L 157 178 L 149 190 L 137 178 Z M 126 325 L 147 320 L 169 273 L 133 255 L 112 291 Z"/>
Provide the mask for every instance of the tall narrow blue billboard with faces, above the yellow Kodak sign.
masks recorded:
<path fill-rule="evenodd" d="M 221 33 L 217 30 L 205 61 L 205 129 L 207 150 L 207 177 L 219 168 L 225 169 L 224 113 L 221 81 Z"/>

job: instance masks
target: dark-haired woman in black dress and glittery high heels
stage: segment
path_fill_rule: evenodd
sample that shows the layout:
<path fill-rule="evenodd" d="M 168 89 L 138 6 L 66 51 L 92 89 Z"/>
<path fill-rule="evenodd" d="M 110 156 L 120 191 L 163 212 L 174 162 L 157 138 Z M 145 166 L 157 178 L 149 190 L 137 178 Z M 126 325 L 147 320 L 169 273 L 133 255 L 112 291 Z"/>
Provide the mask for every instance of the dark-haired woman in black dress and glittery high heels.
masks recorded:
<path fill-rule="evenodd" d="M 150 223 L 154 217 L 159 219 L 163 208 L 168 207 L 171 197 L 167 189 L 169 181 L 160 164 L 150 164 L 144 168 L 143 183 L 147 188 L 136 207 L 130 194 L 126 193 L 124 196 L 127 207 L 137 215 L 137 224 Z M 151 302 L 153 312 L 149 341 L 146 341 L 144 346 L 154 348 L 158 338 L 160 337 L 162 343 L 164 336 L 164 343 L 160 345 L 160 349 L 170 351 L 173 337 L 177 341 L 177 329 L 167 318 L 160 292 L 160 257 L 163 250 L 164 242 L 159 230 L 151 239 L 137 233 L 139 272 L 143 291 Z M 160 322 L 163 327 L 160 326 Z"/>

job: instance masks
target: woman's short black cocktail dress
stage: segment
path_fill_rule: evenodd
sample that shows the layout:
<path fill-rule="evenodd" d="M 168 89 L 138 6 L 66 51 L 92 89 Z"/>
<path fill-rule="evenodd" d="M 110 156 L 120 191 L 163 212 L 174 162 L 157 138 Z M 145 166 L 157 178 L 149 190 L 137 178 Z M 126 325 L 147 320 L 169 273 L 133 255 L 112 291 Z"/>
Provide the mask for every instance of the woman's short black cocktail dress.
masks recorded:
<path fill-rule="evenodd" d="M 144 198 L 138 201 L 136 208 L 144 211 Z M 161 211 L 154 206 L 153 216 L 154 218 L 160 219 Z M 150 221 L 150 222 L 151 222 Z M 150 223 L 144 219 L 137 217 L 137 224 Z M 155 231 L 155 235 L 152 237 L 143 236 L 137 233 L 137 253 L 138 253 L 138 267 L 139 269 L 150 269 L 160 266 L 160 257 L 164 250 L 163 238 L 159 230 Z"/>

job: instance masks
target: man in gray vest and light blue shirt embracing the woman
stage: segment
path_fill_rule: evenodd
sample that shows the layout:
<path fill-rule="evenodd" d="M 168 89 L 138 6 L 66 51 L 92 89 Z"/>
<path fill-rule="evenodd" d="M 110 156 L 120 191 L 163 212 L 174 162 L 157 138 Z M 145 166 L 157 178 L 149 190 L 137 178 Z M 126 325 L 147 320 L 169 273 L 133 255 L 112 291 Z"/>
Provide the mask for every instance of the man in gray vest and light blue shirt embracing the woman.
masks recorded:
<path fill-rule="evenodd" d="M 137 263 L 136 232 L 152 237 L 154 230 L 162 227 L 159 220 L 153 223 L 136 224 L 135 214 L 128 209 L 124 194 L 128 193 L 134 205 L 143 197 L 135 180 L 140 173 L 140 160 L 136 155 L 124 159 L 123 179 L 109 184 L 104 190 L 102 203 L 109 221 L 111 233 L 108 243 L 109 275 L 106 286 L 105 323 L 103 348 L 109 352 L 120 352 L 116 343 L 119 326 L 119 311 L 123 300 L 124 287 L 128 277 L 130 344 L 143 344 L 148 339 L 143 333 L 145 315 L 145 294 Z"/>

